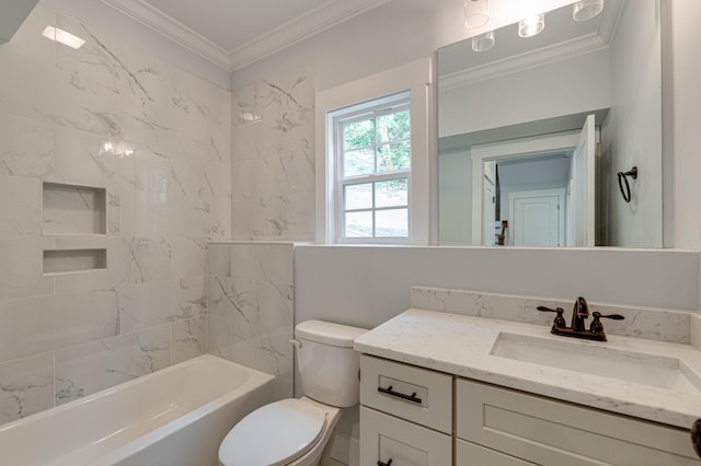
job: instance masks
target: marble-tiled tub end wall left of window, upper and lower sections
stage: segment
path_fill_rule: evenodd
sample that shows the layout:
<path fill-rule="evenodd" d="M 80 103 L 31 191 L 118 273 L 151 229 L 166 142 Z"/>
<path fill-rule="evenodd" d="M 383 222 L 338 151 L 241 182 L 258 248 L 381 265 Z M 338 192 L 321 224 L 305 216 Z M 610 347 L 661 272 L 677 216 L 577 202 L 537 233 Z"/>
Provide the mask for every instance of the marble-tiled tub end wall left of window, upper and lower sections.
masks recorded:
<path fill-rule="evenodd" d="M 276 376 L 294 394 L 294 246 L 314 240 L 311 67 L 232 93 L 231 235 L 209 249 L 209 352 Z M 273 242 L 273 243 L 271 243 Z"/>

